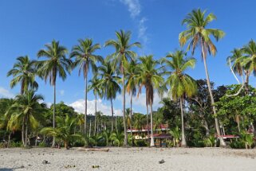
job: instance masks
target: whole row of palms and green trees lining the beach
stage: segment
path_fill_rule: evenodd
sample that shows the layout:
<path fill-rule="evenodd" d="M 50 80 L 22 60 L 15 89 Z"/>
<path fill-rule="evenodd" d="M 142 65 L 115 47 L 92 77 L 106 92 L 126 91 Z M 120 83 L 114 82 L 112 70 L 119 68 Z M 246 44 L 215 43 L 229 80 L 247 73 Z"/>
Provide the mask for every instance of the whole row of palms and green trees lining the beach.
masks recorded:
<path fill-rule="evenodd" d="M 233 72 L 236 80 L 238 80 L 238 85 L 225 87 L 225 92 L 219 96 L 219 99 L 216 99 L 216 92 L 213 91 L 214 87 L 207 68 L 207 56 L 215 56 L 217 48 L 213 43 L 213 39 L 219 41 L 224 37 L 225 33 L 221 29 L 209 29 L 207 27 L 215 19 L 215 15 L 207 14 L 206 10 L 192 10 L 182 21 L 182 25 L 186 25 L 187 29 L 179 33 L 179 44 L 181 47 L 186 46 L 186 51 L 175 50 L 175 52 L 169 52 L 167 56 L 160 60 L 155 60 L 152 55 L 138 56 L 134 49 L 141 47 L 140 42 L 131 42 L 132 33 L 130 31 L 125 32 L 124 30 L 116 31 L 116 38 L 104 43 L 104 47 L 112 47 L 113 49 L 112 54 L 106 57 L 96 55 L 96 51 L 101 48 L 100 44 L 94 43 L 89 38 L 78 40 L 77 45 L 73 46 L 70 53 L 59 41 L 53 40 L 50 44 L 46 44 L 44 49 L 37 52 L 38 60 L 30 60 L 29 56 L 20 56 L 17 58 L 14 67 L 7 73 L 7 76 L 13 76 L 10 87 L 15 87 L 18 84 L 21 85 L 20 95 L 17 95 L 14 99 L 2 100 L 3 118 L 1 126 L 9 130 L 22 130 L 22 143 L 24 146 L 27 146 L 29 129 L 38 128 L 40 124 L 38 121 L 40 121 L 41 114 L 45 110 L 47 111 L 45 103 L 41 103 L 43 97 L 36 94 L 38 88 L 36 77 L 39 77 L 45 80 L 45 82 L 49 82 L 54 90 L 53 105 L 51 107 L 53 112 L 52 118 L 50 119 L 53 125 L 37 131 L 40 134 L 52 136 L 52 146 L 55 146 L 55 138 L 65 140 L 65 147 L 69 146 L 68 139 L 81 137 L 90 139 L 89 126 L 87 125 L 89 124 L 87 115 L 88 91 L 93 91 L 95 95 L 95 120 L 97 117 L 100 117 L 100 115 L 97 115 L 99 111 L 96 110 L 97 99 L 107 99 L 111 102 L 111 129 L 109 133 L 105 132 L 105 134 L 112 133 L 112 137 L 123 139 L 122 144 L 124 146 L 128 146 L 128 127 L 132 128 L 135 125 L 136 127 L 140 127 L 140 124 L 138 124 L 139 121 L 133 116 L 132 97 L 140 96 L 142 91 L 145 91 L 146 94 L 145 104 L 147 114 L 145 124 L 147 126 L 150 125 L 150 146 L 155 146 L 153 139 L 154 125 L 156 127 L 156 122 L 161 121 L 161 119 L 156 118 L 163 118 L 165 115 L 167 118 L 162 119 L 163 121 L 170 119 L 166 116 L 166 113 L 173 115 L 172 112 L 167 112 L 168 108 L 164 108 L 170 104 L 175 111 L 179 106 L 181 134 L 180 137 L 178 136 L 179 138 L 176 138 L 175 142 L 179 142 L 180 139 L 180 145 L 187 146 L 186 140 L 188 139 L 185 133 L 187 126 L 185 125 L 190 124 L 184 119 L 195 116 L 195 118 L 201 117 L 203 120 L 203 126 L 210 142 L 211 138 L 209 136 L 211 129 L 209 128 L 209 120 L 211 123 L 214 122 L 215 134 L 219 138 L 220 146 L 226 146 L 221 132 L 223 130 L 220 130 L 224 125 L 223 120 L 221 122 L 222 125 L 219 126 L 219 119 L 226 118 L 227 114 L 233 115 L 233 112 L 230 112 L 230 107 L 233 107 L 232 109 L 238 107 L 234 103 L 246 103 L 247 106 L 249 105 L 245 111 L 239 111 L 239 109 L 241 110 L 240 107 L 234 110 L 234 113 L 236 113 L 236 119 L 238 120 L 241 119 L 243 113 L 242 123 L 244 129 L 246 129 L 246 126 L 249 126 L 245 123 L 245 119 L 250 120 L 250 126 L 254 127 L 253 117 L 248 118 L 245 116 L 254 115 L 254 111 L 252 111 L 254 106 L 254 103 L 252 103 L 254 100 L 254 88 L 250 87 L 249 78 L 252 72 L 254 74 L 256 73 L 256 44 L 251 40 L 248 45 L 244 45 L 241 49 L 234 49 L 231 52 L 232 55 L 227 57 L 227 63 L 230 64 L 230 70 Z M 195 49 L 199 49 L 201 53 L 206 73 L 206 81 L 203 82 L 201 80 L 201 84 L 200 80 L 194 80 L 187 73 L 187 69 L 195 68 L 196 64 L 195 58 L 188 57 L 187 53 L 191 52 L 193 56 Z M 69 113 L 66 113 L 62 117 L 56 117 L 56 80 L 57 78 L 65 80 L 74 68 L 78 68 L 79 76 L 82 74 L 85 80 L 84 119 L 81 119 L 81 115 L 73 118 Z M 93 72 L 93 77 L 90 79 L 89 72 Z M 240 80 L 242 81 L 238 79 L 238 76 L 241 77 Z M 203 88 L 200 86 L 203 86 Z M 203 92 L 201 92 L 202 90 Z M 116 131 L 117 129 L 114 129 L 115 118 L 113 116 L 114 109 L 112 105 L 112 101 L 116 99 L 116 95 L 121 92 L 123 97 L 123 126 L 121 127 L 124 130 L 124 134 L 120 134 L 120 130 L 118 132 Z M 130 107 L 128 111 L 125 106 L 126 92 L 131 98 L 129 99 Z M 154 112 L 152 105 L 154 103 L 155 92 L 160 97 L 167 94 L 168 98 L 163 98 L 161 101 L 163 107 L 160 107 L 158 111 Z M 234 100 L 237 100 L 237 102 L 234 102 Z M 163 116 L 160 116 L 160 114 Z M 156 115 L 155 121 L 154 115 Z M 137 117 L 140 118 L 143 116 Z M 177 120 L 171 120 L 172 122 L 178 122 Z M 80 122 L 80 132 L 83 130 L 83 135 L 75 133 L 77 121 Z M 81 129 L 81 123 L 84 124 L 83 129 Z M 97 136 L 97 122 L 95 121 L 94 124 L 94 136 Z M 239 123 L 238 127 L 239 132 L 241 132 Z M 71 134 L 72 131 L 74 131 L 74 134 Z M 178 132 L 179 127 L 171 130 L 172 135 L 177 135 Z M 187 136 L 189 137 L 189 135 Z M 246 137 L 246 134 L 244 136 Z M 103 135 L 98 138 L 102 137 Z M 109 138 L 109 136 L 106 137 Z"/>

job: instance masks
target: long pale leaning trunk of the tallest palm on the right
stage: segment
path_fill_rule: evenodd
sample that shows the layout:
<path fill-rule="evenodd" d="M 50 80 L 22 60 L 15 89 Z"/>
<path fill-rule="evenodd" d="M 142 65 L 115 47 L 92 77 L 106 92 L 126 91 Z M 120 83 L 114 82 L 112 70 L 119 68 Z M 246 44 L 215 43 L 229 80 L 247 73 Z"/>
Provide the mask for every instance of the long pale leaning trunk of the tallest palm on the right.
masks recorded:
<path fill-rule="evenodd" d="M 208 91 L 211 97 L 211 106 L 212 106 L 212 110 L 215 116 L 215 128 L 217 130 L 217 134 L 219 137 L 219 142 L 220 142 L 220 146 L 226 146 L 226 143 L 223 141 L 223 137 L 221 137 L 220 134 L 220 130 L 219 130 L 219 122 L 217 119 L 217 113 L 216 113 L 216 108 L 215 108 L 215 99 L 213 98 L 212 95 L 212 91 L 211 91 L 211 84 L 210 84 L 210 78 L 209 78 L 209 73 L 208 73 L 208 68 L 207 68 L 207 59 L 206 59 L 206 55 L 205 55 L 205 49 L 203 47 L 203 41 L 201 41 L 201 48 L 202 48 L 202 54 L 203 54 L 203 64 L 204 64 L 204 68 L 205 68 L 205 73 L 207 76 L 207 87 L 208 87 Z"/>

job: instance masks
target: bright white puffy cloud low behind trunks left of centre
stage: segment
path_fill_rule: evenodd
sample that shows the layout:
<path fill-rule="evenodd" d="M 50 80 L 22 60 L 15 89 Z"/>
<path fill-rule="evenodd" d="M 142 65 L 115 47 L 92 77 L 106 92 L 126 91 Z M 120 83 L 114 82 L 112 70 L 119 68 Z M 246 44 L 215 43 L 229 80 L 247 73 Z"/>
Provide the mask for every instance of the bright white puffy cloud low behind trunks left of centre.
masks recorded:
<path fill-rule="evenodd" d="M 85 99 L 77 99 L 77 101 L 68 104 L 73 107 L 75 111 L 85 114 Z M 111 115 L 111 106 L 104 104 L 101 99 L 97 100 L 97 111 L 102 111 L 104 115 Z M 122 115 L 120 109 L 115 109 L 114 115 Z M 95 114 L 95 100 L 87 100 L 87 115 Z"/>

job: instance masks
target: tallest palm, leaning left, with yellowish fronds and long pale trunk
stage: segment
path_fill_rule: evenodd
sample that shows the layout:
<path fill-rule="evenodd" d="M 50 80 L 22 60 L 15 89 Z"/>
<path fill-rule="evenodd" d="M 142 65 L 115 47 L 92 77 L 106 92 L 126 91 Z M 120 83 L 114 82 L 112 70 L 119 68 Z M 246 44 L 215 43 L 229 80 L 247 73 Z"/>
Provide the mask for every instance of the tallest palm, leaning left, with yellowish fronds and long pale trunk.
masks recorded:
<path fill-rule="evenodd" d="M 219 130 L 219 122 L 216 115 L 215 100 L 211 91 L 210 77 L 207 68 L 207 52 L 215 56 L 217 49 L 213 42 L 211 41 L 211 36 L 215 38 L 216 41 L 219 41 L 224 37 L 225 33 L 220 29 L 207 29 L 207 25 L 216 19 L 214 14 L 206 14 L 206 10 L 192 10 L 190 14 L 187 14 L 187 17 L 183 19 L 182 24 L 187 25 L 187 30 L 179 33 L 179 43 L 181 46 L 185 45 L 189 41 L 187 50 L 192 49 L 192 54 L 195 52 L 197 46 L 201 47 L 203 64 L 207 76 L 207 87 L 211 97 L 212 110 L 215 116 L 215 128 L 219 136 L 220 145 L 226 146 L 226 143 L 223 141 Z"/>

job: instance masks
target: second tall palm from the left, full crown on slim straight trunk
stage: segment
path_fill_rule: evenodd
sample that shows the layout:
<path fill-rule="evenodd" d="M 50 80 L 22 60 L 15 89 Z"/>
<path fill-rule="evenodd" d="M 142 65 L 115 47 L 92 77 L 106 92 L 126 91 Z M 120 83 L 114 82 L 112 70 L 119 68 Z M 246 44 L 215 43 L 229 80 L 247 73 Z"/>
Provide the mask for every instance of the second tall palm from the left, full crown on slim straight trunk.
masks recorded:
<path fill-rule="evenodd" d="M 53 86 L 53 128 L 55 128 L 55 104 L 56 104 L 56 79 L 57 75 L 65 80 L 66 72 L 70 73 L 71 60 L 65 56 L 68 49 L 60 45 L 59 41 L 53 40 L 50 44 L 45 45 L 45 49 L 37 52 L 38 58 L 45 56 L 46 60 L 38 61 L 37 72 L 45 83 L 49 80 L 49 84 Z M 55 141 L 53 137 L 53 146 Z"/>

